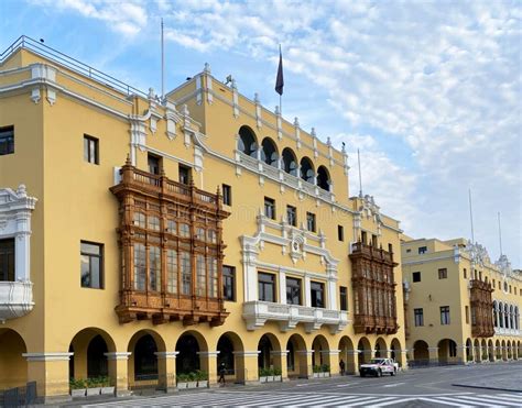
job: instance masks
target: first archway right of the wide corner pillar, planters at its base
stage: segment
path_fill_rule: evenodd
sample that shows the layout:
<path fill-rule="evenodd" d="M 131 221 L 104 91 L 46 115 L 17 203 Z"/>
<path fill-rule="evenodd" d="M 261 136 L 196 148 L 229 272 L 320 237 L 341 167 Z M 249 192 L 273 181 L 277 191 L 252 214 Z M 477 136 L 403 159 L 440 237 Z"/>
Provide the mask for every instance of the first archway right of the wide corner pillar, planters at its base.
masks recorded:
<path fill-rule="evenodd" d="M 70 341 L 69 351 L 74 352 L 69 360 L 69 377 L 87 379 L 116 375 L 109 373 L 106 355 L 106 353 L 115 352 L 116 345 L 106 331 L 98 328 L 80 330 Z"/>

